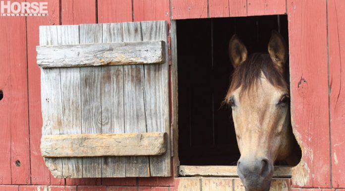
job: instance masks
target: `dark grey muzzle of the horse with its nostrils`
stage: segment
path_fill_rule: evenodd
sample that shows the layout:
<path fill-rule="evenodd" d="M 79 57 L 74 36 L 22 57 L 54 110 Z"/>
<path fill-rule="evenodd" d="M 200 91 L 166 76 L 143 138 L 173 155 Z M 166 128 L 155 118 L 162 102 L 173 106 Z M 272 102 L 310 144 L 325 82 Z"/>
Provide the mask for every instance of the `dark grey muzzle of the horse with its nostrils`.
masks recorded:
<path fill-rule="evenodd" d="M 240 158 L 237 162 L 237 173 L 246 191 L 269 191 L 273 171 L 273 164 L 266 158 Z"/>

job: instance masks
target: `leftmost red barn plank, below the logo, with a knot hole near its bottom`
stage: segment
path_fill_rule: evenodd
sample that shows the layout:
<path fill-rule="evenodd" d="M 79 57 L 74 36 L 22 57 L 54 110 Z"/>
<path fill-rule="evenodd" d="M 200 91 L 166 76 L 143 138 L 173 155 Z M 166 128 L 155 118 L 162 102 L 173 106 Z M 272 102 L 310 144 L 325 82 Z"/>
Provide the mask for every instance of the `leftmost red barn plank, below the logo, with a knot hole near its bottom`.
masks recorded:
<path fill-rule="evenodd" d="M 31 183 L 25 17 L 0 16 L 0 26 L 0 184 L 25 185 Z"/>

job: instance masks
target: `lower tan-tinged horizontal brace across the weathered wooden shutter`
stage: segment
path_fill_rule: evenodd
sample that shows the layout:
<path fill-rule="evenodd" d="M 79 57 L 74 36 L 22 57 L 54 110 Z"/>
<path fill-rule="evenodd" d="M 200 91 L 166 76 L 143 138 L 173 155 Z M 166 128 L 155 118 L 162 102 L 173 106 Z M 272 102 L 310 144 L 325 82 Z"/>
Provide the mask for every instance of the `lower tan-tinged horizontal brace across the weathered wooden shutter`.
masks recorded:
<path fill-rule="evenodd" d="M 43 157 L 146 156 L 167 151 L 166 132 L 43 135 Z"/>

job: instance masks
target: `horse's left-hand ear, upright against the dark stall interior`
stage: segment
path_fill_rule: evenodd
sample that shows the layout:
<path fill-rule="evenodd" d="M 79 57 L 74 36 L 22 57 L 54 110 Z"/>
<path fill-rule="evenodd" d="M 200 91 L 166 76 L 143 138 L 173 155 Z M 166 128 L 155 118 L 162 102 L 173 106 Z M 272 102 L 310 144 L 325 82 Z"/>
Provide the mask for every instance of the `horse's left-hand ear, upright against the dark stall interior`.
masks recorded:
<path fill-rule="evenodd" d="M 247 49 L 235 34 L 232 35 L 229 42 L 229 57 L 235 68 L 247 59 Z"/>

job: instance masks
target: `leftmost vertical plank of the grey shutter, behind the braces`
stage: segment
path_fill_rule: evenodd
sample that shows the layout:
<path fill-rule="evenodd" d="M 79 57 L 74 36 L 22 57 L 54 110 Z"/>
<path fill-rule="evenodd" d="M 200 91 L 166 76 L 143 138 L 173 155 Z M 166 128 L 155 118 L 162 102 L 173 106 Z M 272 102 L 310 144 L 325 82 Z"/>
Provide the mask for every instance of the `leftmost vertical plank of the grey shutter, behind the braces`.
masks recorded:
<path fill-rule="evenodd" d="M 57 26 L 40 26 L 40 45 L 58 44 Z M 60 69 L 41 69 L 42 134 L 60 134 L 63 125 Z M 52 91 L 54 89 L 54 91 Z M 62 159 L 45 158 L 54 177 L 62 177 Z"/>

